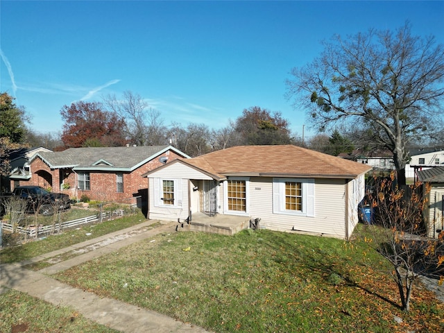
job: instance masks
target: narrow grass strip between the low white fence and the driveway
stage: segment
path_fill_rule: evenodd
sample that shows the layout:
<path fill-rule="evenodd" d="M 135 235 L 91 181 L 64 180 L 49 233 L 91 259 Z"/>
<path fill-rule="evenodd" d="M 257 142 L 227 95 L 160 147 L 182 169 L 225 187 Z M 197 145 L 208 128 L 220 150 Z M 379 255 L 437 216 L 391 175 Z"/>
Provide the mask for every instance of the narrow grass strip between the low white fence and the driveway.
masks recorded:
<path fill-rule="evenodd" d="M 89 212 L 89 214 L 91 213 Z M 32 257 L 37 257 L 38 255 L 49 253 L 53 250 L 65 248 L 94 237 L 102 236 L 103 234 L 128 228 L 142 221 L 145 221 L 145 216 L 139 212 L 138 214 L 123 216 L 119 219 L 105 221 L 103 223 L 84 225 L 78 230 L 67 230 L 61 234 L 53 234 L 37 241 L 31 240 L 26 244 L 6 247 L 0 250 L 0 263 L 10 264 L 12 262 L 22 262 L 23 260 L 31 259 Z M 6 237 L 6 241 L 4 241 L 5 244 L 8 241 L 7 238 L 8 237 Z"/>

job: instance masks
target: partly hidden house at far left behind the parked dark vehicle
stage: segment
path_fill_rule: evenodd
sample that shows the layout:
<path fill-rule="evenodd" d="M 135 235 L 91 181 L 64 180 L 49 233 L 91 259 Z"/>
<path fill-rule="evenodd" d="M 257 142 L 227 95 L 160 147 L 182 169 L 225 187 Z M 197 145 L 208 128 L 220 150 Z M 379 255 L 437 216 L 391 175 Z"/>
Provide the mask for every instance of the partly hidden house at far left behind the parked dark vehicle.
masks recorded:
<path fill-rule="evenodd" d="M 4 188 L 2 188 L 1 191 L 11 191 L 14 188 L 13 184 L 18 186 L 20 180 L 28 180 L 30 176 L 28 161 L 35 153 L 41 152 L 51 152 L 51 150 L 44 147 L 37 147 L 20 148 L 17 149 L 17 151 L 12 151 L 8 156 L 11 169 L 10 175 L 5 181 L 2 180 L 1 185 L 3 185 Z"/>

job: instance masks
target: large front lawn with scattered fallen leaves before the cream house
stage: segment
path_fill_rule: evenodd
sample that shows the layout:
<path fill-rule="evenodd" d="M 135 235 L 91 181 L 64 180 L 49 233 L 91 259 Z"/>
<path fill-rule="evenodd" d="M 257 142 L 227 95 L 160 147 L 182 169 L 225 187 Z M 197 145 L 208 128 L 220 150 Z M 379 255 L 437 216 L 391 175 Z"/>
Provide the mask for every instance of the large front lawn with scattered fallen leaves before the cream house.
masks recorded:
<path fill-rule="evenodd" d="M 57 278 L 214 332 L 442 332 L 434 294 L 404 313 L 387 271 L 368 244 L 245 230 L 158 235 Z"/>

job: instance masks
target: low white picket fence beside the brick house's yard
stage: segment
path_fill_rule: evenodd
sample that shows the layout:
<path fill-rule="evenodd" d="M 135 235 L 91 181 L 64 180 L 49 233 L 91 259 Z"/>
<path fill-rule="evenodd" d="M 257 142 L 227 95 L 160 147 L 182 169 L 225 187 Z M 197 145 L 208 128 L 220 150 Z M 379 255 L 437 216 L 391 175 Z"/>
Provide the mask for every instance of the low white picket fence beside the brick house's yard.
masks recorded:
<path fill-rule="evenodd" d="M 121 216 L 123 215 L 123 211 L 119 210 L 119 211 L 114 211 L 114 212 L 103 212 L 101 213 L 101 221 L 105 221 L 105 220 L 109 220 L 112 219 L 112 217 L 114 216 Z M 55 225 L 28 225 L 27 227 L 20 227 L 20 226 L 16 226 L 15 227 L 15 232 L 19 232 L 22 234 L 27 234 L 28 237 L 35 237 L 36 236 L 36 232 L 37 234 L 49 234 L 51 232 L 60 232 L 61 230 L 64 230 L 66 228 L 74 228 L 78 225 L 83 225 L 86 223 L 94 223 L 99 221 L 100 218 L 100 214 L 96 214 L 96 215 L 91 215 L 91 216 L 87 216 L 87 217 L 82 217 L 80 219 L 75 219 L 75 220 L 71 220 L 71 221 L 66 221 L 66 222 L 62 222 L 62 223 L 56 223 Z M 12 224 L 10 223 L 1 223 L 1 228 L 3 230 L 12 232 L 13 227 Z"/>

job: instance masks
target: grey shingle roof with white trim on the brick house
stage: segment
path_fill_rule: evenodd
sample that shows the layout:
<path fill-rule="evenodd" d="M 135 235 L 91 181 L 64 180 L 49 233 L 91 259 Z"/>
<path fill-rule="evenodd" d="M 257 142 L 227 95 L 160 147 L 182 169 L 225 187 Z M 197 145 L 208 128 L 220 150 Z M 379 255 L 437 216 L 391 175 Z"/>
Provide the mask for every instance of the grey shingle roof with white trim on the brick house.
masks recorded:
<path fill-rule="evenodd" d="M 124 146 L 69 148 L 66 151 L 36 153 L 51 169 L 76 171 L 133 171 L 167 151 L 189 158 L 173 146 Z"/>

